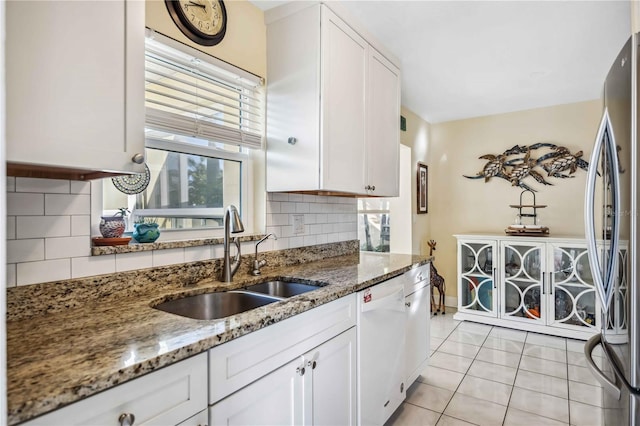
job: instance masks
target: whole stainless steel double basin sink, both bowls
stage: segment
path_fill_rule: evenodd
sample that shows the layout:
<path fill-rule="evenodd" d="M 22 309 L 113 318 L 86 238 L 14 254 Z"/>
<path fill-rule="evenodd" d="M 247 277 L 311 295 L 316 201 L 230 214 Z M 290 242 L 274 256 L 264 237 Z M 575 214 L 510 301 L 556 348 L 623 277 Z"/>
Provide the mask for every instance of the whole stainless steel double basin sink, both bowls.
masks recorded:
<path fill-rule="evenodd" d="M 187 318 L 212 320 L 246 312 L 318 288 L 318 285 L 299 282 L 267 281 L 240 290 L 186 296 L 160 303 L 154 308 Z"/>

